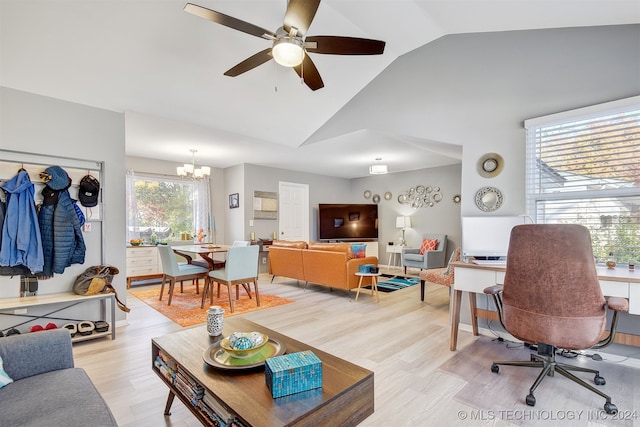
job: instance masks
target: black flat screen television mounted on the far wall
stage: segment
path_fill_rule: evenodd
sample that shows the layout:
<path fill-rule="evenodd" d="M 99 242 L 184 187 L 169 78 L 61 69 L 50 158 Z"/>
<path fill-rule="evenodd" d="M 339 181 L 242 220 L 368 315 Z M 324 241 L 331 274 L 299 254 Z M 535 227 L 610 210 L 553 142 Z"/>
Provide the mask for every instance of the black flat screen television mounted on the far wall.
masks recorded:
<path fill-rule="evenodd" d="M 318 205 L 318 240 L 358 241 L 378 238 L 378 205 Z"/>

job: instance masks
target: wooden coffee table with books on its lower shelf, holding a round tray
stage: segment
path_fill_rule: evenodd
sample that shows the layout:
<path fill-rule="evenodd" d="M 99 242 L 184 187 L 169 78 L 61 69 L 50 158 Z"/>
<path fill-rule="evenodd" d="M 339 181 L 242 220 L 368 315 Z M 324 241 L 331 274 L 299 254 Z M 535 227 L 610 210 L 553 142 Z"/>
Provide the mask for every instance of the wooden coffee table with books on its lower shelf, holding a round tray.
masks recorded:
<path fill-rule="evenodd" d="M 296 341 L 241 317 L 225 319 L 222 336 L 257 331 L 286 345 L 287 353 L 311 350 L 322 361 L 322 388 L 274 399 L 267 388 L 264 367 L 220 369 L 204 362 L 204 351 L 221 337 L 211 338 L 206 326 L 186 329 L 151 342 L 152 366 L 158 352 L 179 365 L 195 383 L 244 426 L 354 426 L 374 411 L 373 372 L 317 348 Z M 169 387 L 165 414 L 177 396 L 202 422 L 212 425 L 190 398 L 160 370 L 154 372 Z"/>

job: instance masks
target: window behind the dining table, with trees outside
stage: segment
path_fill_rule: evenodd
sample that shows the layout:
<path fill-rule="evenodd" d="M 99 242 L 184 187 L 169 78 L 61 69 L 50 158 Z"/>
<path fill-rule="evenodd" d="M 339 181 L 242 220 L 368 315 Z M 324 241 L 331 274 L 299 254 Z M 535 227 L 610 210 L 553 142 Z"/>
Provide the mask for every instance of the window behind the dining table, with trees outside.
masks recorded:
<path fill-rule="evenodd" d="M 127 174 L 127 241 L 180 240 L 199 229 L 211 237 L 208 180 Z M 215 221 L 215 220 L 214 220 Z"/>

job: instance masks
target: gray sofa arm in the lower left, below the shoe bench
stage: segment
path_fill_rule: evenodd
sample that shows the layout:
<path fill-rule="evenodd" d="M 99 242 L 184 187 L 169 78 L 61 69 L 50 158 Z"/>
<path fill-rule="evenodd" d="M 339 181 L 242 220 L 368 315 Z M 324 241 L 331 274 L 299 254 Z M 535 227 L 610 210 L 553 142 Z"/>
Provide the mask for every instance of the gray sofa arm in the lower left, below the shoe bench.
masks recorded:
<path fill-rule="evenodd" d="M 71 334 L 67 329 L 0 338 L 0 356 L 14 381 L 74 366 Z"/>

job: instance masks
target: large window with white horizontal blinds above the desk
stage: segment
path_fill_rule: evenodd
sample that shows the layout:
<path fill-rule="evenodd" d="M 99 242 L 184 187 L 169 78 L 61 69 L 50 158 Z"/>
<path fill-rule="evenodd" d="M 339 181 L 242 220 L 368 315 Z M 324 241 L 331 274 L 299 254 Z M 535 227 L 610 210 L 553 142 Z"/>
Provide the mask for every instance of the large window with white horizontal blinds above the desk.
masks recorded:
<path fill-rule="evenodd" d="M 591 232 L 599 262 L 640 257 L 640 97 L 525 121 L 527 212 Z"/>

